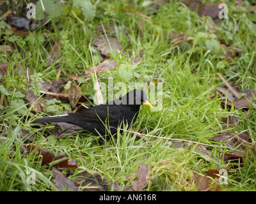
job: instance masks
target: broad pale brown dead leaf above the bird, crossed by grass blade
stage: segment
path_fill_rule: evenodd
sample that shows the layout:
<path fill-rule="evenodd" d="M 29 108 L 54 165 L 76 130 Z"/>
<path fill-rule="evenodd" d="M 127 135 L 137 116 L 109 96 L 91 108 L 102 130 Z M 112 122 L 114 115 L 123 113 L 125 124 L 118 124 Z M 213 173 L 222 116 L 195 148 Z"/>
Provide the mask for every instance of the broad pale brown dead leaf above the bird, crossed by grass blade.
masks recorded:
<path fill-rule="evenodd" d="M 101 54 L 106 58 L 110 58 L 110 54 L 118 53 L 122 50 L 121 43 L 119 43 L 116 38 L 111 36 L 106 37 L 105 35 L 100 35 L 93 45 L 97 47 Z"/>

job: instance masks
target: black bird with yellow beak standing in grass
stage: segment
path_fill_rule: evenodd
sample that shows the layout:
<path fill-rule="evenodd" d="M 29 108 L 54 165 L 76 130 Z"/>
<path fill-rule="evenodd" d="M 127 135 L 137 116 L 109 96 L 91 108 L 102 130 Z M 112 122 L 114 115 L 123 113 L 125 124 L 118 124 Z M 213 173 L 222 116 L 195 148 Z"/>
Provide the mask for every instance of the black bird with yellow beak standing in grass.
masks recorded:
<path fill-rule="evenodd" d="M 97 135 L 109 135 L 106 124 L 109 125 L 111 134 L 116 133 L 118 125 L 124 121 L 128 126 L 132 126 L 138 117 L 141 105 L 152 105 L 147 101 L 147 95 L 140 89 L 134 89 L 122 98 L 109 101 L 99 106 L 84 109 L 77 113 L 43 117 L 34 120 L 38 122 L 67 122 L 84 129 L 88 129 Z"/>

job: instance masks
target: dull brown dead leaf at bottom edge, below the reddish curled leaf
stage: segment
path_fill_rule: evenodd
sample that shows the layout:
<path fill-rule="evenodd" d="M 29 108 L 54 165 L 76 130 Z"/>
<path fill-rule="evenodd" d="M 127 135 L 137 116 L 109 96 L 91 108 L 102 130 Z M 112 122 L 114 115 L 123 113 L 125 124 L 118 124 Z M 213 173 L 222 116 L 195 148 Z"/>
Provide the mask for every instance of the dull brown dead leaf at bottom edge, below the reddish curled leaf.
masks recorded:
<path fill-rule="evenodd" d="M 61 173 L 58 169 L 52 166 L 52 171 L 54 174 L 54 185 L 57 187 L 59 191 L 78 191 L 78 187 L 74 182 L 67 179 L 66 175 Z"/>

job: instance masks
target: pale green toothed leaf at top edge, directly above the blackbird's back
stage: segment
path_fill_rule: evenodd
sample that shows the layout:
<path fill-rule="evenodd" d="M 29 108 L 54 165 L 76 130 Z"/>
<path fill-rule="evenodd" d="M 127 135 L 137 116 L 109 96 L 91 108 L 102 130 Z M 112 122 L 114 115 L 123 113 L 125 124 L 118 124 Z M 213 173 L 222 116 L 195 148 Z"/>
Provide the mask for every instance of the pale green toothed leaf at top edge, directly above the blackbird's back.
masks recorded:
<path fill-rule="evenodd" d="M 86 20 L 93 20 L 96 14 L 96 6 L 90 0 L 74 0 L 73 5 L 79 8 Z"/>

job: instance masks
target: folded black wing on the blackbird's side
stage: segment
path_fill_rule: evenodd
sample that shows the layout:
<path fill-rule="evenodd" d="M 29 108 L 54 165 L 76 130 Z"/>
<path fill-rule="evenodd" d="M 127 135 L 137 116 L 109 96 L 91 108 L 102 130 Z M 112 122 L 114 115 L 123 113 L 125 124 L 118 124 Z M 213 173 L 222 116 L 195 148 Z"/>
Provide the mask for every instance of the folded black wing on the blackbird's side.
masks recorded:
<path fill-rule="evenodd" d="M 101 122 L 101 120 L 105 122 L 108 119 L 109 123 L 115 123 L 124 117 L 121 109 L 120 106 L 116 105 L 99 105 L 69 115 L 88 122 Z"/>

